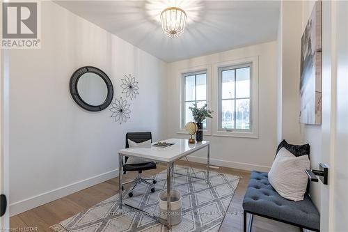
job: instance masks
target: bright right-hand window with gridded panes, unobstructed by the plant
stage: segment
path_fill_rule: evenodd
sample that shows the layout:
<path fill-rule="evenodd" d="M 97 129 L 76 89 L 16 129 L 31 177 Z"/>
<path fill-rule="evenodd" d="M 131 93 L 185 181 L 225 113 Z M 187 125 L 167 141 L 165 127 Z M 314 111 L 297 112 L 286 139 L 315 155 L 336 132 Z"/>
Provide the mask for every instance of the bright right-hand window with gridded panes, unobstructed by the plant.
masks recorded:
<path fill-rule="evenodd" d="M 219 130 L 252 130 L 252 63 L 219 68 Z"/>

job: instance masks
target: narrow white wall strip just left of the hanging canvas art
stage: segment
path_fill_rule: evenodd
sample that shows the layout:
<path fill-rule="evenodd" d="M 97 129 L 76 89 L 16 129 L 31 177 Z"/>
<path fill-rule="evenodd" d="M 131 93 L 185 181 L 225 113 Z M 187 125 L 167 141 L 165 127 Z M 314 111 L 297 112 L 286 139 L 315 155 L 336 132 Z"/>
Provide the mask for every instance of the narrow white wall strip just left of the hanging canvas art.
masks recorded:
<path fill-rule="evenodd" d="M 301 1 L 281 3 L 281 64 L 282 64 L 282 139 L 292 144 L 301 144 L 299 123 L 300 95 L 299 73 L 301 55 Z"/>

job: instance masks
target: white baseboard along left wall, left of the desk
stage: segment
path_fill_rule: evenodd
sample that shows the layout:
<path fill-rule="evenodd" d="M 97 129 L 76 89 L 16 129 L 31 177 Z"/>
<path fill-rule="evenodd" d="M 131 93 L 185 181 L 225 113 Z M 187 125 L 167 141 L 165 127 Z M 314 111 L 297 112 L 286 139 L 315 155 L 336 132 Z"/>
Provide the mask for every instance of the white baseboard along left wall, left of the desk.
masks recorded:
<path fill-rule="evenodd" d="M 10 208 L 9 208 L 10 217 L 17 215 L 21 212 L 24 212 L 26 210 L 31 210 L 32 208 L 42 206 L 45 203 L 55 201 L 56 199 L 60 199 L 64 196 L 68 196 L 69 194 L 73 194 L 74 192 L 84 190 L 87 187 L 97 185 L 111 178 L 115 178 L 116 176 L 118 176 L 118 169 L 108 171 L 106 173 L 102 173 L 100 175 L 87 178 L 85 180 L 80 180 L 70 185 L 58 187 L 55 190 L 44 192 L 42 194 L 29 197 L 22 201 L 10 203 Z"/>

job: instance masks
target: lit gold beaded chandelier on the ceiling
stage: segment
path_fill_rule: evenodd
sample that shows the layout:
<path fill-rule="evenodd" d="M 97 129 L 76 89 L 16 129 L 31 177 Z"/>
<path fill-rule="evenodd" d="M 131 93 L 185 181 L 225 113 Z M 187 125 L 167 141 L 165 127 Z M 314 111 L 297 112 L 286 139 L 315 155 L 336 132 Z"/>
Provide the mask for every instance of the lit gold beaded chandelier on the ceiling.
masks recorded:
<path fill-rule="evenodd" d="M 186 13 L 177 7 L 166 8 L 161 13 L 161 24 L 168 37 L 179 37 L 184 33 Z"/>

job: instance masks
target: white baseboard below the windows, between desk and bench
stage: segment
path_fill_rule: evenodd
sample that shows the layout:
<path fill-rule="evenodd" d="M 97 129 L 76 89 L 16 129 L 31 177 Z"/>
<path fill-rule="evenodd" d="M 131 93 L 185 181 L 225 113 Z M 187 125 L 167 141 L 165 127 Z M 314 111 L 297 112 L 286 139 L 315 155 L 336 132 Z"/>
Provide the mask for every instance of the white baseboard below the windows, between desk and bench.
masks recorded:
<path fill-rule="evenodd" d="M 202 164 L 207 163 L 207 157 L 198 157 L 198 156 L 189 155 L 187 158 L 189 159 L 189 161 L 192 161 L 192 162 L 198 162 L 198 163 L 202 163 Z M 242 170 L 246 170 L 246 171 L 253 171 L 253 170 L 255 170 L 255 171 L 269 171 L 269 169 L 271 169 L 271 167 L 257 165 L 257 164 L 232 162 L 232 161 L 228 161 L 228 160 L 218 160 L 218 159 L 213 159 L 213 158 L 210 158 L 210 164 L 216 165 L 216 166 L 221 166 L 221 167 L 229 167 L 232 169 L 242 169 Z"/>

